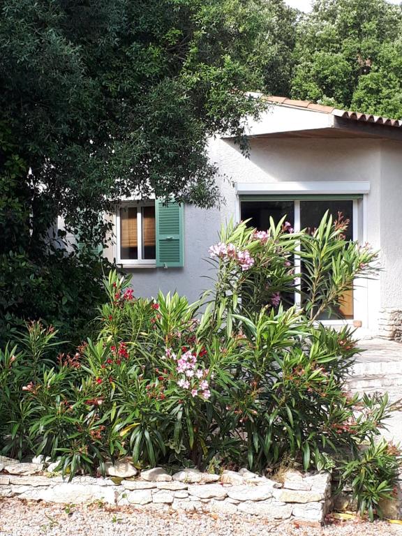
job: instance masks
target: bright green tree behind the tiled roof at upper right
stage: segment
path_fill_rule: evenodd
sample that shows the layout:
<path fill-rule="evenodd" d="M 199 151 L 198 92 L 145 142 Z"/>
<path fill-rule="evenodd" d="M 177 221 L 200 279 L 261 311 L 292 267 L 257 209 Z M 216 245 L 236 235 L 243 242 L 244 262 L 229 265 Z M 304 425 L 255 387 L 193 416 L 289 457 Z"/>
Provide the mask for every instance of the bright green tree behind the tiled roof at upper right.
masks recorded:
<path fill-rule="evenodd" d="M 297 27 L 292 96 L 402 117 L 402 8 L 315 0 Z"/>

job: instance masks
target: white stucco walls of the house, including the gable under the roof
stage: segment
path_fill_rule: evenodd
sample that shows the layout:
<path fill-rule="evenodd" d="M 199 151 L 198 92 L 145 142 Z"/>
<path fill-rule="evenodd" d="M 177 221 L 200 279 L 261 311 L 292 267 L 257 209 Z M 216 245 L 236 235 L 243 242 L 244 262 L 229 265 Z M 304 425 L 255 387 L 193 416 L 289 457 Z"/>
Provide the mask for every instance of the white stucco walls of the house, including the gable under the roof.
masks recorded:
<path fill-rule="evenodd" d="M 311 110 L 271 107 L 261 121 L 252 121 L 251 135 L 329 128 L 334 117 Z M 379 127 L 380 128 L 380 127 Z M 229 139 L 209 143 L 209 157 L 218 167 L 221 209 L 184 207 L 184 267 L 126 269 L 133 274 L 136 295 L 156 296 L 177 290 L 195 301 L 211 283 L 205 262 L 207 251 L 218 239 L 221 224 L 239 218 L 236 183 L 281 183 L 283 181 L 364 181 L 370 193 L 359 202 L 359 240 L 381 250 L 380 277 L 357 281 L 355 319 L 362 320 L 370 334 L 378 332 L 380 308 L 402 309 L 402 233 L 399 214 L 402 207 L 400 170 L 402 144 L 357 138 L 251 138 L 250 156 L 245 158 Z M 107 251 L 112 260 L 116 248 Z"/>

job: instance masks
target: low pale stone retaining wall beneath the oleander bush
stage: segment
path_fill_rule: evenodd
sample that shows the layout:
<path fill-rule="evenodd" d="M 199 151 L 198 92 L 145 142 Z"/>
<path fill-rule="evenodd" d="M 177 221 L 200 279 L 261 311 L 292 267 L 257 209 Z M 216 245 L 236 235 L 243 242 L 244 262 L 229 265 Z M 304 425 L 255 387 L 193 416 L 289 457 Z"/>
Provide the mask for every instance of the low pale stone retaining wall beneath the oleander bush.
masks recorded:
<path fill-rule="evenodd" d="M 43 463 L 18 463 L 0 456 L 0 498 L 17 497 L 59 503 L 101 501 L 140 509 L 252 514 L 266 519 L 301 519 L 322 523 L 331 497 L 326 472 L 285 473 L 283 483 L 246 469 L 221 475 L 184 469 L 169 475 L 163 468 L 140 477 L 73 477 L 70 482 L 46 472 Z"/>

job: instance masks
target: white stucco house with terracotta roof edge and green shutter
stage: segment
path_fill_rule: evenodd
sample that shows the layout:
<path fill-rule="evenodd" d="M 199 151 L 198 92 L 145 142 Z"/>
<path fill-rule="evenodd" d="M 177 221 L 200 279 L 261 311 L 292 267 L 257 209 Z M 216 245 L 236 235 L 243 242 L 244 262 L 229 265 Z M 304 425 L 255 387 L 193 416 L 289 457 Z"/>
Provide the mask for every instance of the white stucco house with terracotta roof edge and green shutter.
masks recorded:
<path fill-rule="evenodd" d="M 210 140 L 225 204 L 220 209 L 164 207 L 133 200 L 113 215 L 114 246 L 105 251 L 133 273 L 136 295 L 178 290 L 191 301 L 209 288 L 208 248 L 221 224 L 287 215 L 299 230 L 338 211 L 350 219 L 350 239 L 381 251 L 378 279 L 356 281 L 343 319 L 364 333 L 402 337 L 402 121 L 308 101 L 268 98 L 269 110 L 249 126 L 246 158 L 231 137 Z"/>

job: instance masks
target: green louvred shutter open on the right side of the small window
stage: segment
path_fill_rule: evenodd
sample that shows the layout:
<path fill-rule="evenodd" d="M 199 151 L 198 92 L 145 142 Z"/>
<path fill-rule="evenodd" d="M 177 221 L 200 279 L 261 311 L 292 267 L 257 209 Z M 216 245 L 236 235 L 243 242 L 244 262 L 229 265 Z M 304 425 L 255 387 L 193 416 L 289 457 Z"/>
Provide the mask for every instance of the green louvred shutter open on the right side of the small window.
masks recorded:
<path fill-rule="evenodd" d="M 156 266 L 184 266 L 184 207 L 155 201 Z"/>

